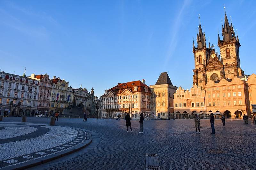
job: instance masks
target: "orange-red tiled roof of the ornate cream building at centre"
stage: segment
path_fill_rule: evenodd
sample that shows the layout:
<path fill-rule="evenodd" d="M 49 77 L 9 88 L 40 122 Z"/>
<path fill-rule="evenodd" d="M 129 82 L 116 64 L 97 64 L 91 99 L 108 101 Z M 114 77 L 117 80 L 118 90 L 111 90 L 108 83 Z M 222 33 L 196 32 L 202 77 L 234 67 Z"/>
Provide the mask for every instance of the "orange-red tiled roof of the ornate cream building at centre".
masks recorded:
<path fill-rule="evenodd" d="M 134 86 L 138 87 L 137 91 L 134 91 Z M 145 91 L 145 87 L 148 88 L 148 92 Z M 108 89 L 108 91 L 116 91 L 115 94 L 120 94 L 125 89 L 132 89 L 132 92 L 144 92 L 144 93 L 151 94 L 150 87 L 148 87 L 146 84 L 144 84 L 140 80 L 117 84 L 115 87 Z"/>

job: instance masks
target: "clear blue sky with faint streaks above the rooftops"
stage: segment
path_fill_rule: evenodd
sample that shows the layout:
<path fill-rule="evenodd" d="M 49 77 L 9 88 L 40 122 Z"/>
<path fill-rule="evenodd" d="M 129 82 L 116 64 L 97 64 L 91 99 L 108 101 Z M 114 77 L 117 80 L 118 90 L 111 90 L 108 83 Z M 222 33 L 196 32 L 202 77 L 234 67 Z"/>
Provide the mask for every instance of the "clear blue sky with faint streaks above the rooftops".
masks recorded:
<path fill-rule="evenodd" d="M 200 14 L 216 45 L 224 4 L 241 47 L 241 68 L 256 73 L 256 1 L 0 1 L 1 71 L 49 74 L 101 96 L 118 82 L 146 80 L 161 72 L 172 84 L 192 87 Z M 195 38 L 196 43 L 196 38 Z M 216 46 L 217 47 L 217 46 Z M 217 51 L 220 51 L 216 48 Z"/>

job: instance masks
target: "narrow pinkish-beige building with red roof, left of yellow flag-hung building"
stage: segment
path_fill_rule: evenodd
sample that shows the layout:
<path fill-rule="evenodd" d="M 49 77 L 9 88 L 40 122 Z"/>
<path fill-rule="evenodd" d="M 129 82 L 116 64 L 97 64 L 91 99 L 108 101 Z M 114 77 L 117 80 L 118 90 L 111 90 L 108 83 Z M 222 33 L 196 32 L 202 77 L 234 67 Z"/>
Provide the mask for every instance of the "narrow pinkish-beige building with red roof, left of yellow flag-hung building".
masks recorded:
<path fill-rule="evenodd" d="M 39 82 L 37 112 L 39 114 L 50 114 L 50 99 L 52 90 L 52 81 L 49 79 L 48 74 L 31 74 L 29 77 Z"/>

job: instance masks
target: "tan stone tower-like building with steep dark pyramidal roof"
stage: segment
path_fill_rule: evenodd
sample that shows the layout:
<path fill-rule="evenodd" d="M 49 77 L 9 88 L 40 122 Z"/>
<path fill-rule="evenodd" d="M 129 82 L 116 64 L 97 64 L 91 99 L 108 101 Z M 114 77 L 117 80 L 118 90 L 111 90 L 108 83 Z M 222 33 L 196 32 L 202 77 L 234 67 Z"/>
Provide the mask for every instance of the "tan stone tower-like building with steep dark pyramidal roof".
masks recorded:
<path fill-rule="evenodd" d="M 177 87 L 172 85 L 167 72 L 161 73 L 155 85 L 150 85 L 151 114 L 158 118 L 170 118 L 173 113 L 173 93 Z M 153 115 L 149 115 L 149 118 Z"/>

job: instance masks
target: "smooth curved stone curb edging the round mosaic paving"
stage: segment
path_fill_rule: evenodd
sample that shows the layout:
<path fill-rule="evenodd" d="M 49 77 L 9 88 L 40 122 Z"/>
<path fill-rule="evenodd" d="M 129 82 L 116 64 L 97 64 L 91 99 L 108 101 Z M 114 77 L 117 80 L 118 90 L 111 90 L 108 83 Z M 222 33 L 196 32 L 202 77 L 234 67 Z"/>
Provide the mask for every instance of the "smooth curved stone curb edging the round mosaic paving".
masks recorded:
<path fill-rule="evenodd" d="M 58 159 L 60 157 L 66 156 L 70 153 L 79 151 L 80 149 L 83 149 L 84 147 L 86 147 L 90 143 L 92 143 L 92 139 L 85 139 L 81 144 L 73 146 L 71 148 L 68 148 L 64 151 L 60 151 L 60 152 L 54 153 L 52 155 L 48 155 L 48 156 L 38 158 L 38 159 L 35 159 L 35 160 L 30 160 L 30 161 L 20 163 L 20 164 L 17 164 L 17 165 L 9 166 L 9 167 L 3 168 L 3 170 L 13 170 L 13 169 L 19 170 L 19 169 L 27 169 L 27 168 L 30 168 L 30 167 L 33 167 L 33 166 L 37 166 L 37 165 L 52 161 L 54 159 Z"/>

